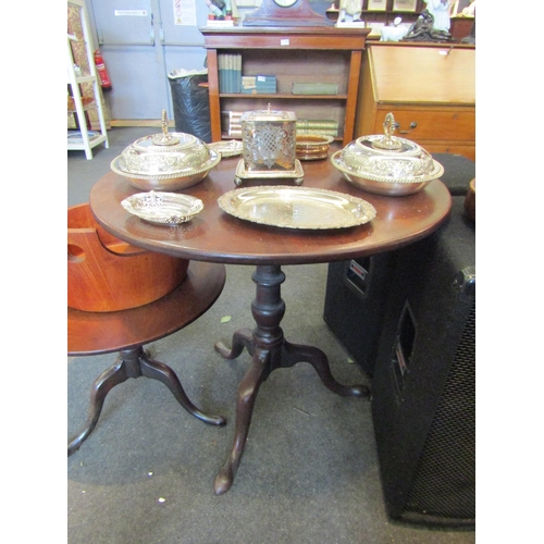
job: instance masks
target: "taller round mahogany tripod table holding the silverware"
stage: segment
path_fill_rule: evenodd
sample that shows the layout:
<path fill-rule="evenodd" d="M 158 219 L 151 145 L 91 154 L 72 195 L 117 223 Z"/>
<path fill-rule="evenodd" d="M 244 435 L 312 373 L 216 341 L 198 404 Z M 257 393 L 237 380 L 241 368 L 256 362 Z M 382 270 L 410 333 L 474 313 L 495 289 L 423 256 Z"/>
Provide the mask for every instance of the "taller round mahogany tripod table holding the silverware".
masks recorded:
<path fill-rule="evenodd" d="M 396 249 L 435 231 L 452 206 L 449 191 L 440 181 L 432 182 L 416 195 L 385 197 L 351 186 L 329 160 L 308 161 L 304 164 L 305 187 L 362 198 L 374 206 L 376 218 L 366 225 L 316 231 L 257 224 L 234 218 L 218 205 L 221 195 L 236 188 L 237 161 L 237 157 L 223 159 L 202 182 L 183 190 L 200 198 L 205 207 L 189 223 L 180 226 L 152 225 L 131 217 L 120 202 L 138 190 L 113 172 L 97 182 L 89 200 L 98 223 L 135 246 L 184 259 L 256 267 L 252 275 L 256 298 L 251 304 L 256 327 L 236 331 L 231 348 L 220 343 L 215 345 L 223 357 L 235 358 L 247 348 L 252 358 L 238 390 L 233 447 L 215 478 L 217 494 L 225 493 L 233 484 L 259 387 L 272 371 L 306 361 L 332 392 L 346 396 L 369 395 L 363 385 L 346 386 L 336 382 L 326 355 L 318 347 L 290 344 L 285 339 L 280 326 L 286 310 L 281 297 L 281 284 L 285 279 L 281 267 L 347 260 Z M 288 182 L 259 181 L 248 182 L 248 185 L 288 185 Z"/>

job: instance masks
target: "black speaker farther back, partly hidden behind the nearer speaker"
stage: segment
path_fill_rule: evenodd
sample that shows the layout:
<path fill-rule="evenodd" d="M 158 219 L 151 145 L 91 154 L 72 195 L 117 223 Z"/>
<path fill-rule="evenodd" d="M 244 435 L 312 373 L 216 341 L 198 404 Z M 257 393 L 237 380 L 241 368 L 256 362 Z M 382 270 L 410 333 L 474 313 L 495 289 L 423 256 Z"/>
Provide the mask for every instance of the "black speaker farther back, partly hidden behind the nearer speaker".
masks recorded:
<path fill-rule="evenodd" d="M 369 376 L 378 356 L 393 260 L 390 251 L 329 264 L 323 320 Z"/>

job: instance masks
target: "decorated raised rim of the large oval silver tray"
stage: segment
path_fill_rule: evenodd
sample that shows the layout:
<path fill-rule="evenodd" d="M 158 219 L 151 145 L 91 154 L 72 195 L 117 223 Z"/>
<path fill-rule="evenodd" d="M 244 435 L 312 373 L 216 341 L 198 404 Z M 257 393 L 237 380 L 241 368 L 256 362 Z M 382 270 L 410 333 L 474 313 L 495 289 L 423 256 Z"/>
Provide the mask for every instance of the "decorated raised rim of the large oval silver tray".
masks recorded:
<path fill-rule="evenodd" d="M 281 191 L 281 193 L 290 193 L 290 194 L 297 194 L 297 193 L 313 193 L 316 195 L 319 195 L 320 197 L 334 197 L 334 199 L 342 199 L 345 201 L 348 201 L 349 203 L 356 205 L 357 207 L 362 209 L 362 213 L 360 217 L 356 217 L 355 214 L 350 213 L 348 210 L 346 210 L 346 217 L 347 220 L 344 223 L 335 223 L 335 224 L 323 224 L 320 226 L 308 226 L 304 224 L 294 224 L 294 223 L 288 223 L 288 222 L 281 222 L 277 219 L 274 220 L 273 218 L 254 218 L 251 215 L 247 215 L 245 213 L 240 213 L 239 210 L 233 206 L 233 199 L 243 193 L 274 193 L 274 191 Z M 279 200 L 281 200 L 281 197 L 279 197 Z M 336 190 L 329 190 L 329 189 L 318 189 L 314 187 L 286 187 L 284 185 L 277 185 L 277 186 L 260 186 L 260 187 L 247 187 L 247 188 L 240 188 L 240 189 L 234 189 L 230 190 L 228 193 L 225 193 L 221 197 L 218 198 L 218 205 L 219 207 L 230 215 L 233 215 L 237 219 L 250 221 L 252 223 L 257 224 L 263 224 L 263 225 L 269 225 L 269 226 L 279 226 L 283 228 L 296 228 L 296 230 L 307 230 L 307 231 L 325 231 L 325 230 L 333 230 L 333 228 L 348 228 L 351 226 L 359 226 L 363 225 L 366 223 L 369 223 L 372 221 L 375 215 L 376 211 L 375 208 L 368 202 L 367 200 L 363 200 L 362 198 L 354 197 L 351 195 L 347 195 L 346 193 L 339 193 Z"/>

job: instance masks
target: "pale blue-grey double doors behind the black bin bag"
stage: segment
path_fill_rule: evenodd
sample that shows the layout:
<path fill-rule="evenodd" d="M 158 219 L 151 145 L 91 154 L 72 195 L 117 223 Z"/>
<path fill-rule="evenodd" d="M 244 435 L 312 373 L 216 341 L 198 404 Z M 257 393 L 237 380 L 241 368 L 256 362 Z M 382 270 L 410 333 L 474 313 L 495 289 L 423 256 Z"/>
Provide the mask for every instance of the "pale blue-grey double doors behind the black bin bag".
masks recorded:
<path fill-rule="evenodd" d="M 168 74 L 202 70 L 205 0 L 87 0 L 108 70 L 112 119 L 173 118 Z M 196 24 L 195 24 L 196 23 Z"/>

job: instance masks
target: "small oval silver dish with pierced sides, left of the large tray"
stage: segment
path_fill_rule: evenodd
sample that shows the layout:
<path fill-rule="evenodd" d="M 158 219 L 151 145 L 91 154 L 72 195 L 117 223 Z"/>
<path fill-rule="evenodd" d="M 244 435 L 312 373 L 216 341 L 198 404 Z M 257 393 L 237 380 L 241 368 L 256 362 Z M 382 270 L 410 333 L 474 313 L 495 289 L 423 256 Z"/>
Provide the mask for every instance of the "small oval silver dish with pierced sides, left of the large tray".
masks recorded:
<path fill-rule="evenodd" d="M 121 201 L 121 206 L 134 215 L 150 223 L 177 225 L 190 221 L 203 209 L 199 198 L 176 193 L 138 193 Z"/>

